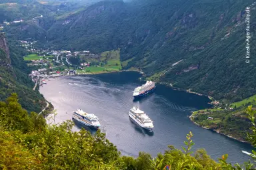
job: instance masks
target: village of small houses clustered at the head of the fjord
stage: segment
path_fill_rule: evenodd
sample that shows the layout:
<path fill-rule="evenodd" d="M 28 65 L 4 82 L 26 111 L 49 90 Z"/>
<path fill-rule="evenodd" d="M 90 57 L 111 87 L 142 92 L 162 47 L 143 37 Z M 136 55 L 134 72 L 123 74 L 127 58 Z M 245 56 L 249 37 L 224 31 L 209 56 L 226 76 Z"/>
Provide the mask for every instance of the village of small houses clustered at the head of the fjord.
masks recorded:
<path fill-rule="evenodd" d="M 74 51 L 69 50 L 51 50 L 37 49 L 34 44 L 36 41 L 20 41 L 21 46 L 26 48 L 29 55 L 23 56 L 27 66 L 31 68 L 29 76 L 35 82 L 42 86 L 46 84 L 47 79 L 59 76 L 76 75 L 77 69 L 83 69 L 90 66 L 90 62 L 77 62 L 79 56 L 97 57 L 97 54 L 90 53 L 89 50 Z M 70 58 L 74 58 L 75 64 L 71 64 Z M 89 74 L 89 73 L 88 73 Z"/>

